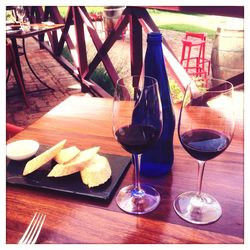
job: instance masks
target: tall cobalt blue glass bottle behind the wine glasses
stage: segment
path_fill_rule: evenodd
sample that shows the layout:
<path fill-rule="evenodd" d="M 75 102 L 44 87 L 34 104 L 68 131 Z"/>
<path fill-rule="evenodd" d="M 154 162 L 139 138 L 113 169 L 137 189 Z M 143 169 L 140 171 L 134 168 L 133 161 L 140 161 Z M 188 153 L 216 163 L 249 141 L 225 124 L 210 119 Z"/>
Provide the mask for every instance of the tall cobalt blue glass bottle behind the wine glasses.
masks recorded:
<path fill-rule="evenodd" d="M 142 154 L 140 173 L 145 176 L 161 176 L 171 170 L 174 161 L 173 135 L 175 116 L 163 58 L 162 34 L 159 32 L 149 33 L 147 43 L 145 75 L 156 78 L 159 84 L 163 112 L 163 130 L 156 144 Z"/>

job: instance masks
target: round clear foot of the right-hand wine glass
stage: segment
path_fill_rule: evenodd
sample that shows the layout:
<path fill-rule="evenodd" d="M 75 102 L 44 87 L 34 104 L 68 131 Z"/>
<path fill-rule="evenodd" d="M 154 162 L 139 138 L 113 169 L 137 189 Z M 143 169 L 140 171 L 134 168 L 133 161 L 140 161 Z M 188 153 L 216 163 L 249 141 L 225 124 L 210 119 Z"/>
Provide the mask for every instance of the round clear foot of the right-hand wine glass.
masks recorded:
<path fill-rule="evenodd" d="M 211 195 L 190 191 L 180 194 L 174 201 L 175 212 L 185 221 L 193 224 L 209 224 L 217 221 L 222 209 L 219 202 Z"/>

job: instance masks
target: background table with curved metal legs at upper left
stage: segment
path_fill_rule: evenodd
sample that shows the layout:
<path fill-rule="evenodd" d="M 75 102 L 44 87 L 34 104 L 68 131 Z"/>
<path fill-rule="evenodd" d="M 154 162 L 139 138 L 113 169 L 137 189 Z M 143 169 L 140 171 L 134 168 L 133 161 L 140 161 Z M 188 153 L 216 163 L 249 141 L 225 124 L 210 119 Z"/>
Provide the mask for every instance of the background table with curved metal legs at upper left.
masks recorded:
<path fill-rule="evenodd" d="M 25 48 L 25 39 L 28 37 L 35 37 L 35 36 L 43 36 L 45 33 L 47 33 L 49 36 L 52 37 L 53 42 L 55 44 L 58 43 L 58 39 L 57 39 L 57 34 L 55 33 L 55 31 L 57 31 L 58 29 L 62 29 L 64 27 L 64 24 L 54 24 L 54 25 L 45 25 L 42 23 L 34 23 L 30 25 L 30 30 L 29 31 L 18 31 L 18 32 L 6 32 L 6 37 L 11 39 L 12 41 L 12 45 L 13 45 L 13 49 L 16 55 L 16 62 L 17 62 L 17 66 L 19 69 L 19 73 L 21 78 L 23 79 L 23 73 L 22 73 L 22 67 L 21 67 L 21 63 L 20 63 L 20 54 L 18 52 L 18 46 L 17 46 L 17 39 L 22 39 L 22 47 L 23 47 L 23 53 L 26 59 L 26 62 L 31 70 L 31 72 L 33 73 L 33 75 L 39 80 L 39 82 L 44 85 L 46 87 L 46 89 L 51 89 L 53 90 L 53 88 L 51 88 L 49 85 L 47 85 L 46 82 L 42 81 L 39 76 L 36 74 L 35 70 L 33 69 L 33 67 L 31 66 L 28 57 L 27 57 L 27 53 L 26 53 L 26 48 Z M 52 32 L 52 35 L 50 34 Z M 56 53 L 55 51 L 56 49 L 54 48 L 54 53 Z M 45 89 L 45 90 L 46 90 Z M 43 89 L 42 89 L 43 90 Z M 41 90 L 39 90 L 41 91 Z M 33 91 L 32 91 L 33 92 Z"/>

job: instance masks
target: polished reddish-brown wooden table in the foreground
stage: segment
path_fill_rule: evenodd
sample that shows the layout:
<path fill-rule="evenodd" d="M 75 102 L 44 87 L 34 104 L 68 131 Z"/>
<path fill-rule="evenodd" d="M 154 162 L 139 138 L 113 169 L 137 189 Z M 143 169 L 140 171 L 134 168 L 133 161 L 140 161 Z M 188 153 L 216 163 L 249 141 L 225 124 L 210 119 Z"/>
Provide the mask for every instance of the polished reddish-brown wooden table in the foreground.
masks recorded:
<path fill-rule="evenodd" d="M 71 96 L 10 141 L 32 138 L 52 145 L 66 138 L 81 149 L 99 145 L 102 153 L 128 156 L 112 135 L 112 99 Z M 175 106 L 176 118 L 179 106 Z M 242 111 L 238 112 L 242 114 Z M 160 178 L 142 178 L 161 194 L 159 207 L 143 216 L 122 212 L 110 203 L 60 192 L 7 185 L 7 243 L 16 243 L 35 211 L 47 214 L 38 243 L 243 243 L 243 121 L 237 120 L 229 148 L 209 161 L 203 191 L 222 205 L 222 217 L 198 226 L 180 219 L 172 202 L 196 189 L 197 166 L 175 133 L 173 171 Z M 130 166 L 119 188 L 132 183 Z M 118 189 L 119 189 L 118 188 Z"/>

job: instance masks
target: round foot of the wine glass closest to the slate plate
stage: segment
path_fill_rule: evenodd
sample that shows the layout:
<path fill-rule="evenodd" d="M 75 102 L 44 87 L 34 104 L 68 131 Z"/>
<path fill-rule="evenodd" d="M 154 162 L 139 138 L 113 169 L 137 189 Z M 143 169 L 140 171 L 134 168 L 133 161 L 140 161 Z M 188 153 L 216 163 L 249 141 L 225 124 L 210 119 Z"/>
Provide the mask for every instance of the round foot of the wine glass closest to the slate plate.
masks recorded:
<path fill-rule="evenodd" d="M 134 194 L 134 186 L 122 188 L 116 196 L 120 209 L 130 214 L 146 214 L 153 211 L 160 203 L 160 194 L 153 187 L 141 185 L 141 195 Z"/>

